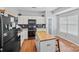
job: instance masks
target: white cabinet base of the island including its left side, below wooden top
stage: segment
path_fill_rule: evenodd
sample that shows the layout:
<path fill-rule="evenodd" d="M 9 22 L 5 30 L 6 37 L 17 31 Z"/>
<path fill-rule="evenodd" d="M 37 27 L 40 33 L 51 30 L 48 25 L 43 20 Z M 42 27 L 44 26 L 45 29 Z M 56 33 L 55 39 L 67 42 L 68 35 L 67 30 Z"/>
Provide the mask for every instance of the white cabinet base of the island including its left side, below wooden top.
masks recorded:
<path fill-rule="evenodd" d="M 38 52 L 55 52 L 56 51 L 56 41 L 39 41 L 36 40 L 36 47 Z"/>

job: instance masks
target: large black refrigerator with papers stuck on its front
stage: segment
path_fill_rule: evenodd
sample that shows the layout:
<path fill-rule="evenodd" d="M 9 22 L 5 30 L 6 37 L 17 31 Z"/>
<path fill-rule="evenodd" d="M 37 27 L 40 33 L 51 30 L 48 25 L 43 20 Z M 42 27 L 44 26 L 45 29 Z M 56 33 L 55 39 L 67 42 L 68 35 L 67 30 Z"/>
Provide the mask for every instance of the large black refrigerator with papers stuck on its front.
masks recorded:
<path fill-rule="evenodd" d="M 16 40 L 17 30 L 14 24 L 12 26 L 11 17 L 13 16 L 4 16 L 0 14 L 0 49 L 3 52 L 14 52 L 19 50 L 20 44 L 19 41 Z"/>

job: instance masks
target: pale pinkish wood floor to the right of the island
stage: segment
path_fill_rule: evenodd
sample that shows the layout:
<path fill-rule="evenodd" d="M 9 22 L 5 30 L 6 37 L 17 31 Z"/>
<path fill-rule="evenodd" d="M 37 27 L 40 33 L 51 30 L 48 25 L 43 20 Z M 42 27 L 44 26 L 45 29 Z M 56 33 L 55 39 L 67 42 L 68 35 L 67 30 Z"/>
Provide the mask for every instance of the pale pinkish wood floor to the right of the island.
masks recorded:
<path fill-rule="evenodd" d="M 58 37 L 61 52 L 79 52 L 79 46 Z"/>

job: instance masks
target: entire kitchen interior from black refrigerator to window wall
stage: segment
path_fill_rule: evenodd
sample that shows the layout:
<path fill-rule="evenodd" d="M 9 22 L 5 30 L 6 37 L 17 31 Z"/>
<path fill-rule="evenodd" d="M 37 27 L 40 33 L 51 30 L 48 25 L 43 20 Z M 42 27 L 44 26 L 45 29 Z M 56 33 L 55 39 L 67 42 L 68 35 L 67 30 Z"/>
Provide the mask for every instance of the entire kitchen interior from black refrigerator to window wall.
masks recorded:
<path fill-rule="evenodd" d="M 79 52 L 78 7 L 0 8 L 1 52 Z"/>

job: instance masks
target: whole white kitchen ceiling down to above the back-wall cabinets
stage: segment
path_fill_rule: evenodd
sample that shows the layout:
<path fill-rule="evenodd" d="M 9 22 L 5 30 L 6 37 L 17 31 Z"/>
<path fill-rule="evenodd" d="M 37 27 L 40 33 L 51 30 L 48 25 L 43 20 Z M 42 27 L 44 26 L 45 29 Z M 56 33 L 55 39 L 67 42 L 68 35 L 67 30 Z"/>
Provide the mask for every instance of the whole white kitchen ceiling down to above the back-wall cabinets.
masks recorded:
<path fill-rule="evenodd" d="M 58 7 L 6 7 L 9 9 L 14 9 L 17 13 L 21 13 L 22 15 L 27 16 L 40 16 L 44 15 L 45 11 L 54 11 Z"/>

